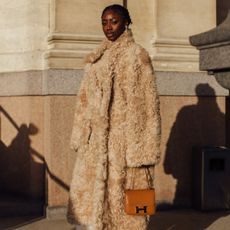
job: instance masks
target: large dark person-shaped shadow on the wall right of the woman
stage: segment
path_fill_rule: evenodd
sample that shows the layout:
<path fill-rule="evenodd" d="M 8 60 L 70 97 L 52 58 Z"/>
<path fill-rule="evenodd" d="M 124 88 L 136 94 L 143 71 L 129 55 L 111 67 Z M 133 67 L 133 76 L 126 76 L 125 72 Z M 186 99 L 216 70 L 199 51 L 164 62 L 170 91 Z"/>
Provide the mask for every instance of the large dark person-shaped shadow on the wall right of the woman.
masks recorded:
<path fill-rule="evenodd" d="M 164 170 L 177 180 L 173 204 L 159 208 L 191 208 L 193 146 L 225 145 L 225 116 L 218 107 L 214 89 L 208 84 L 199 84 L 195 90 L 197 104 L 185 106 L 179 111 L 166 146 Z M 155 218 L 157 217 L 153 218 L 153 226 Z M 190 229 L 205 229 L 214 221 L 215 217 L 206 218 L 206 221 L 200 221 L 200 225 L 197 222 L 197 226 L 190 226 Z M 170 226 L 155 227 L 163 230 Z M 175 220 L 175 227 L 172 229 L 180 229 L 177 226 Z"/>

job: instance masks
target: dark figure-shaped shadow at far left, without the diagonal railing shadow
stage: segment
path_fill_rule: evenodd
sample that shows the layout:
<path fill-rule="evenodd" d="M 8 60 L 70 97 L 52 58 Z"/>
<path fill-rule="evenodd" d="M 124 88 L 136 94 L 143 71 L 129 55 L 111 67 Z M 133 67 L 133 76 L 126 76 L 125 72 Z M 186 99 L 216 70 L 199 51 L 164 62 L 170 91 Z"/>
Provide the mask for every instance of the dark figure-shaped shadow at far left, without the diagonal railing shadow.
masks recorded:
<path fill-rule="evenodd" d="M 32 173 L 36 174 L 37 183 L 41 184 L 36 198 L 44 197 L 44 166 L 34 162 L 30 156 L 30 135 L 36 135 L 37 128 L 30 124 L 22 124 L 9 146 L 1 141 L 0 149 L 0 192 L 17 196 L 33 197 L 31 191 Z M 32 172 L 33 171 L 33 172 Z"/>

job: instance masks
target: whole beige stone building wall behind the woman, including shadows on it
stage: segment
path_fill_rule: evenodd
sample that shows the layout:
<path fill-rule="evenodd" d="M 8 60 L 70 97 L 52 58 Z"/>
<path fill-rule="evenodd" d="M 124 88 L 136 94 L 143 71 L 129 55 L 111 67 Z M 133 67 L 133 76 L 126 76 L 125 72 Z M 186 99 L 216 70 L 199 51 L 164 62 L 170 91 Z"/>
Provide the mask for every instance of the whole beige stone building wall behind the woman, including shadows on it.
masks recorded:
<path fill-rule="evenodd" d="M 13 149 L 12 162 L 24 154 L 26 189 L 34 197 L 45 190 L 49 208 L 67 203 L 75 159 L 69 138 L 83 57 L 103 39 L 100 14 L 110 3 L 123 1 L 0 3 L 1 148 Z M 192 146 L 225 143 L 228 92 L 199 72 L 198 52 L 188 42 L 190 35 L 215 26 L 215 1 L 130 0 L 127 6 L 134 36 L 152 57 L 160 93 L 157 200 L 189 206 Z M 39 164 L 46 168 L 43 184 Z"/>

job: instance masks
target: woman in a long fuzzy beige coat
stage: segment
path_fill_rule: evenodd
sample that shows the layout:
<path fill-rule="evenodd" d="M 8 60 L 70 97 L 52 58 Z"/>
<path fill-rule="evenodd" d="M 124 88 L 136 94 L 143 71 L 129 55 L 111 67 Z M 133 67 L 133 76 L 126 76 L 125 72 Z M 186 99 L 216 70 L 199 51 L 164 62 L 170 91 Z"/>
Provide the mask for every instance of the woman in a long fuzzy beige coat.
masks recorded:
<path fill-rule="evenodd" d="M 86 59 L 72 133 L 77 153 L 68 219 L 94 230 L 146 229 L 124 212 L 124 191 L 147 188 L 145 167 L 159 161 L 160 116 L 147 52 L 134 42 L 127 9 L 102 13 L 106 39 Z M 135 175 L 133 175 L 135 168 Z"/>

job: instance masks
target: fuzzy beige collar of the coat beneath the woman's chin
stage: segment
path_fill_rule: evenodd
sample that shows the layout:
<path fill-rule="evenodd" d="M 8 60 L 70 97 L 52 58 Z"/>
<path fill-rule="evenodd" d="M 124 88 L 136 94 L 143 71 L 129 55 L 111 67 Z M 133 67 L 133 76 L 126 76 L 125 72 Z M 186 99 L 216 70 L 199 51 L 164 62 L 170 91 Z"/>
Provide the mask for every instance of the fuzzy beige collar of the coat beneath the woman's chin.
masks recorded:
<path fill-rule="evenodd" d="M 133 42 L 134 38 L 130 29 L 125 30 L 124 33 L 116 41 L 112 42 L 105 38 L 98 49 L 86 56 L 85 63 L 93 64 L 103 56 L 106 50 L 113 50 L 112 53 L 116 53 L 118 48 L 127 47 L 128 44 Z"/>

